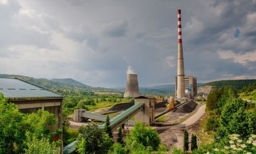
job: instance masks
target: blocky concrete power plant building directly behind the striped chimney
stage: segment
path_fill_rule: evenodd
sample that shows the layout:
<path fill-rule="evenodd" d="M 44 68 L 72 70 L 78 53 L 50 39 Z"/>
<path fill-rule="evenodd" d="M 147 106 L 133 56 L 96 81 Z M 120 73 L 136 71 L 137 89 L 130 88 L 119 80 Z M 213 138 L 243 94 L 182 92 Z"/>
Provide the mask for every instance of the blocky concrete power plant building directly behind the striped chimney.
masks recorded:
<path fill-rule="evenodd" d="M 177 96 L 177 77 L 175 77 L 175 97 Z M 190 86 L 190 84 L 192 85 L 191 87 L 191 92 L 190 92 L 190 96 L 196 96 L 198 94 L 198 86 L 197 86 L 197 80 L 196 77 L 193 76 L 185 76 L 184 77 L 184 84 L 185 84 L 185 90 L 184 92 L 187 94 L 188 92 L 188 88 Z M 186 95 L 185 94 L 185 95 Z"/>

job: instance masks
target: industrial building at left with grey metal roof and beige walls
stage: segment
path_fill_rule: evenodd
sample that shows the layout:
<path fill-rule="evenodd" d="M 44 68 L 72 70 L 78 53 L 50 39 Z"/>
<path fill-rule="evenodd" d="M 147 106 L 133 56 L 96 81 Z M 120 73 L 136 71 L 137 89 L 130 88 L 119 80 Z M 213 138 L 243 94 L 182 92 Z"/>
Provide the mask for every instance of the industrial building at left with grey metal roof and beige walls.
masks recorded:
<path fill-rule="evenodd" d="M 38 109 L 53 113 L 57 123 L 48 128 L 51 132 L 62 128 L 62 94 L 19 78 L 0 78 L 0 93 L 7 101 L 13 102 L 23 113 L 37 112 Z M 57 136 L 54 140 L 62 139 Z"/>

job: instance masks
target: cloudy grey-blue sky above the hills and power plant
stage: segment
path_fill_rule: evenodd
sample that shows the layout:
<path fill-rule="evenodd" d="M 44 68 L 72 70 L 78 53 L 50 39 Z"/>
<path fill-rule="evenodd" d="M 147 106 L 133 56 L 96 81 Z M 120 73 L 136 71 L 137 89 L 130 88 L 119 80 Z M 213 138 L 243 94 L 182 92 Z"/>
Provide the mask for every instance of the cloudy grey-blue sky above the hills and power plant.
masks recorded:
<path fill-rule="evenodd" d="M 173 84 L 177 14 L 198 82 L 256 78 L 256 1 L 0 0 L 0 73 L 90 86 Z"/>

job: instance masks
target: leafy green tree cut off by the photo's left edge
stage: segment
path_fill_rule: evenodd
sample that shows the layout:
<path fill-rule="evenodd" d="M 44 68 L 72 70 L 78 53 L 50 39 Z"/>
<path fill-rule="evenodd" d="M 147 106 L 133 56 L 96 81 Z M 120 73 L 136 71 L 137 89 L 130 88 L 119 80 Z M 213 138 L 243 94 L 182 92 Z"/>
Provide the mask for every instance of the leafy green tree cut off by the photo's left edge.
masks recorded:
<path fill-rule="evenodd" d="M 25 148 L 26 127 L 17 105 L 8 103 L 0 93 L 0 153 L 21 153 Z"/>

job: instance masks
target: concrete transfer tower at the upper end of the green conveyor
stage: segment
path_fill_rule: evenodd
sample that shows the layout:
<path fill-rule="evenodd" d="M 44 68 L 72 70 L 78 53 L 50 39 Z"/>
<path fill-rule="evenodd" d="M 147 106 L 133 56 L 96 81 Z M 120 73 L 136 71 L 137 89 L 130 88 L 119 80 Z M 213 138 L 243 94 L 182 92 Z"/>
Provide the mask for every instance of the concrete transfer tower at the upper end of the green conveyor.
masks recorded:
<path fill-rule="evenodd" d="M 135 104 L 144 103 L 144 109 L 135 115 L 135 122 L 141 121 L 145 125 L 153 124 L 155 121 L 155 99 L 154 98 L 135 98 Z"/>

